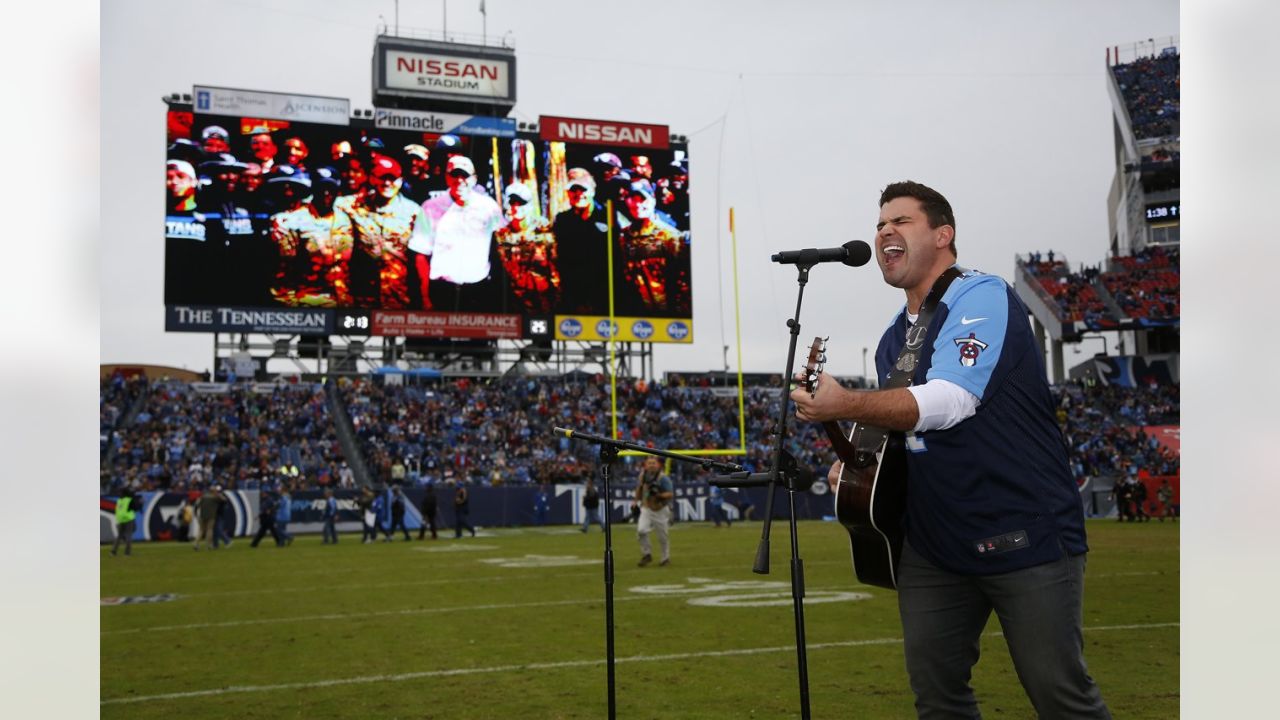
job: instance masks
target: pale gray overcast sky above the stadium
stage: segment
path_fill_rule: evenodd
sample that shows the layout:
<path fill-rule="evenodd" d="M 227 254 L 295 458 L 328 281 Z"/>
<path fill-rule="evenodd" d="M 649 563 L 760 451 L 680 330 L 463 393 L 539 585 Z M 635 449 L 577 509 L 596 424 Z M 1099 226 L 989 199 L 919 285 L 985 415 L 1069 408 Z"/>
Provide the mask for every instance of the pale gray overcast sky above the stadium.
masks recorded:
<path fill-rule="evenodd" d="M 490 0 L 486 24 L 479 5 L 449 3 L 448 29 L 509 31 L 520 120 L 634 120 L 691 137 L 695 342 L 657 345 L 659 373 L 718 369 L 736 347 L 731 206 L 749 372 L 786 360 L 796 273 L 769 256 L 870 240 L 888 182 L 951 200 L 966 266 L 1011 279 L 1015 254 L 1050 249 L 1097 263 L 1114 172 L 1106 47 L 1179 32 L 1171 0 Z M 212 85 L 369 108 L 384 20 L 396 23 L 392 0 L 102 4 L 104 363 L 211 364 L 210 336 L 164 332 L 161 96 Z M 401 3 L 402 29 L 444 20 L 440 0 Z M 874 265 L 819 266 L 801 346 L 829 336 L 829 368 L 860 374 L 861 348 L 901 302 Z"/>

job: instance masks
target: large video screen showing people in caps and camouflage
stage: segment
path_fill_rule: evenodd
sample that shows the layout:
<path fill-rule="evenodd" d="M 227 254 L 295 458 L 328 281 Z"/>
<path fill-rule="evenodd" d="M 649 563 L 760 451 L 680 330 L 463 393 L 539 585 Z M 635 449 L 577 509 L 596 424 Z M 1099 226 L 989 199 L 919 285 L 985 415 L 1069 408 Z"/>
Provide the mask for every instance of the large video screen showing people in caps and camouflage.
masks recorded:
<path fill-rule="evenodd" d="M 169 110 L 165 304 L 691 318 L 685 147 L 358 123 Z"/>

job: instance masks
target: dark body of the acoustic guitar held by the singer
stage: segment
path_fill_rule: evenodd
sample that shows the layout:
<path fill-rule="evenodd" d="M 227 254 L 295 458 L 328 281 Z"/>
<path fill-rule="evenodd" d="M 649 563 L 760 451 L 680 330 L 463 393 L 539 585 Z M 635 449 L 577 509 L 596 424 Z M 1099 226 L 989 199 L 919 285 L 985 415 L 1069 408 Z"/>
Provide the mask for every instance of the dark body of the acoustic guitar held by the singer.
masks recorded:
<path fill-rule="evenodd" d="M 906 510 L 906 455 L 892 445 L 882 443 L 878 459 L 874 451 L 856 451 L 836 486 L 836 519 L 849 532 L 854 574 L 887 589 L 897 589 Z"/>

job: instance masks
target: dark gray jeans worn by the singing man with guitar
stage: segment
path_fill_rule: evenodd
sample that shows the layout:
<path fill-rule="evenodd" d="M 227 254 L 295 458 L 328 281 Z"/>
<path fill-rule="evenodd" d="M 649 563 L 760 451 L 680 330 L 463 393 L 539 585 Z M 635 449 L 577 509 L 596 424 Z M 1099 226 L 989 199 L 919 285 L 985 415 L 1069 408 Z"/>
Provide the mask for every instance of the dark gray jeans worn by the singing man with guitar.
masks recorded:
<path fill-rule="evenodd" d="M 956 575 L 904 543 L 897 607 L 916 715 L 982 717 L 969 679 L 995 610 L 1041 719 L 1110 719 L 1084 665 L 1083 596 L 1084 555 L 998 575 Z"/>

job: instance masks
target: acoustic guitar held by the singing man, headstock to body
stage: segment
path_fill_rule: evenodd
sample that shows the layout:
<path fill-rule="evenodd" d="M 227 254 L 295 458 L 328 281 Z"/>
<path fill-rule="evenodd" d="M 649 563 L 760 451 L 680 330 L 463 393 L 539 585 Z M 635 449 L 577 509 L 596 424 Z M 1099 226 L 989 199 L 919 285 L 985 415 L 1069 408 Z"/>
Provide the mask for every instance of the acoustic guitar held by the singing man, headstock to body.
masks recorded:
<path fill-rule="evenodd" d="M 805 363 L 804 388 L 818 391 L 827 341 L 815 337 Z M 897 589 L 906 510 L 906 450 L 901 433 L 854 423 L 846 436 L 836 421 L 822 423 L 845 464 L 836 483 L 836 519 L 849 530 L 854 574 L 868 585 Z"/>

